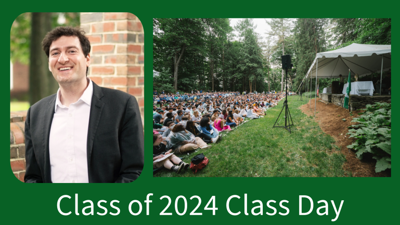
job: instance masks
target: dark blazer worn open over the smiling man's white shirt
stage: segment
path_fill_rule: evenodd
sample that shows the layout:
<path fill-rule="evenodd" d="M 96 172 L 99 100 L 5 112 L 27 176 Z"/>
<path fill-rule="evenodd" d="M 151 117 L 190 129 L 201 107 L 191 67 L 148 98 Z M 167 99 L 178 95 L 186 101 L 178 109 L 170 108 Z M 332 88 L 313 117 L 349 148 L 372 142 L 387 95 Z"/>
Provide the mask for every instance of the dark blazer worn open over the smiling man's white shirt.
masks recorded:
<path fill-rule="evenodd" d="M 25 182 L 51 182 L 49 136 L 56 94 L 32 105 L 25 121 Z M 87 131 L 90 183 L 127 183 L 143 170 L 144 136 L 136 98 L 93 83 Z"/>

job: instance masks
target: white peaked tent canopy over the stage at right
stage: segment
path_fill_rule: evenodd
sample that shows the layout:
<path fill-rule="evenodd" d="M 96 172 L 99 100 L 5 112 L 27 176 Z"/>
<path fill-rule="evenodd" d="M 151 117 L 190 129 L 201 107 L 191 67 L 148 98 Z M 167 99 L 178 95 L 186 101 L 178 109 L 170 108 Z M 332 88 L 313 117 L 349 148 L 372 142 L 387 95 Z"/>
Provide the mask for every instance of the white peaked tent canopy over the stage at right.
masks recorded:
<path fill-rule="evenodd" d="M 351 44 L 333 51 L 317 53 L 306 78 L 338 78 L 358 74 L 360 77 L 383 71 L 391 67 L 391 45 L 361 45 Z M 383 55 L 383 64 L 382 64 Z M 317 72 L 318 60 L 318 74 Z"/>

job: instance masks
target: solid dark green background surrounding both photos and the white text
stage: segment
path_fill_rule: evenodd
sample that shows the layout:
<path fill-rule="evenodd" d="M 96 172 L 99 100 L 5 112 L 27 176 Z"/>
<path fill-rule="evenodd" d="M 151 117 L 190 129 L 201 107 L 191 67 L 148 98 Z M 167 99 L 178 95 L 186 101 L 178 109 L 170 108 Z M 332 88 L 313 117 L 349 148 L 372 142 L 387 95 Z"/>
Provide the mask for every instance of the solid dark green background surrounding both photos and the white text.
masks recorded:
<path fill-rule="evenodd" d="M 32 1 L 12 1 L 4 5 L 4 12 L 1 16 L 1 28 L 8 31 L 13 20 L 21 13 L 26 11 L 129 11 L 135 14 L 142 22 L 145 31 L 145 95 L 146 109 L 150 110 L 152 96 L 152 18 L 153 17 L 214 17 L 214 18 L 279 18 L 279 17 L 391 17 L 394 22 L 393 40 L 397 40 L 399 25 L 396 23 L 399 17 L 398 4 L 379 1 L 326 1 L 326 3 L 306 3 L 303 1 L 48 1 L 45 3 L 33 3 Z M 315 1 L 314 1 L 315 2 Z M 45 6 L 43 6 L 45 5 Z M 8 146 L 8 74 L 9 74 L 9 38 L 7 33 L 1 38 L 3 48 L 1 55 L 2 68 L 5 71 L 5 82 L 1 83 L 2 96 L 1 103 L 5 108 L 1 110 L 2 120 L 0 121 L 3 129 L 0 131 L 3 137 L 0 143 L 3 143 L 1 151 L 1 174 L 3 196 L 2 200 L 2 223 L 207 223 L 207 224 L 244 224 L 244 223 L 282 223 L 282 224 L 324 224 L 332 223 L 331 219 L 335 217 L 335 212 L 330 204 L 334 200 L 336 207 L 344 200 L 344 204 L 338 220 L 335 223 L 340 224 L 388 224 L 397 223 L 397 209 L 399 201 L 399 176 L 396 171 L 398 168 L 392 165 L 392 178 L 153 178 L 151 162 L 151 117 L 146 116 L 145 120 L 145 168 L 138 180 L 130 184 L 25 184 L 15 179 L 9 164 Z M 396 42 L 395 42 L 396 43 Z M 393 45 L 396 52 L 397 45 Z M 394 62 L 397 62 L 397 56 L 394 55 Z M 398 84 L 399 77 L 396 76 L 399 69 L 394 66 L 393 76 L 394 84 Z M 394 96 L 399 97 L 399 92 L 393 92 Z M 394 98 L 396 99 L 396 97 Z M 399 103 L 394 104 L 394 110 L 398 108 Z M 149 112 L 149 111 L 146 111 Z M 396 113 L 394 113 L 396 115 Z M 398 129 L 393 118 L 395 138 L 393 146 L 396 149 L 399 141 L 396 138 Z M 394 151 L 394 158 L 397 151 Z M 209 166 L 212 166 L 212 162 Z M 95 205 L 94 216 L 76 216 L 74 213 L 75 193 L 79 194 L 79 209 L 87 204 L 82 204 L 84 200 L 90 199 Z M 148 193 L 154 193 L 151 197 L 150 216 L 146 216 L 146 204 L 143 202 Z M 290 209 L 287 216 L 268 216 L 264 213 L 262 216 L 244 215 L 243 197 L 248 194 L 248 212 L 250 213 L 253 200 L 261 200 L 264 203 L 263 211 L 271 212 L 266 207 L 268 200 L 275 200 L 278 212 L 284 212 L 280 209 L 279 202 L 288 200 L 284 206 Z M 60 196 L 68 194 L 72 199 L 62 201 L 64 211 L 72 211 L 70 216 L 62 216 L 57 211 L 57 200 Z M 159 216 L 159 213 L 166 206 L 167 200 L 160 197 L 168 195 L 172 199 L 171 206 L 167 212 L 173 213 L 173 216 Z M 174 200 L 177 196 L 183 195 L 188 201 L 188 211 L 184 216 L 178 216 L 174 209 Z M 202 212 L 202 216 L 189 216 L 189 213 L 198 204 L 197 200 L 190 200 L 193 195 L 201 197 L 202 203 L 197 212 Z M 204 211 L 203 208 L 209 198 L 216 196 L 216 215 L 212 216 L 211 211 Z M 239 216 L 232 216 L 226 210 L 226 200 L 231 195 L 239 195 L 240 199 L 231 201 L 231 210 L 233 212 L 241 211 Z M 299 195 L 308 195 L 314 200 L 314 210 L 308 216 L 299 216 L 298 204 Z M 326 200 L 329 202 L 329 215 L 318 216 L 316 209 L 320 206 L 317 201 Z M 116 205 L 120 208 L 120 215 L 106 216 L 96 215 L 97 211 L 102 212 L 97 207 L 97 201 L 106 200 L 107 206 L 112 200 L 119 200 Z M 139 216 L 132 216 L 128 211 L 128 204 L 132 200 L 142 202 L 143 210 Z M 182 205 L 182 200 L 179 204 Z M 308 204 L 303 203 L 303 207 Z M 116 210 L 107 206 L 109 212 Z M 134 205 L 133 211 L 137 211 Z M 181 209 L 182 211 L 182 209 Z"/>

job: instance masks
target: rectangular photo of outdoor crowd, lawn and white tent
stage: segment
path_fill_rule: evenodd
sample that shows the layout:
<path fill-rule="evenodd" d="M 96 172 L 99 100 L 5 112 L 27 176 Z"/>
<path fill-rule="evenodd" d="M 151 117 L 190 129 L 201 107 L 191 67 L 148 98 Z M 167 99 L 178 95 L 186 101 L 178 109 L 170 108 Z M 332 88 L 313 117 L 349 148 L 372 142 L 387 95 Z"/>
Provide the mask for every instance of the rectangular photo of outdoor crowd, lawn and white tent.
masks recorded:
<path fill-rule="evenodd" d="M 153 18 L 154 177 L 391 177 L 391 132 L 390 18 Z"/>

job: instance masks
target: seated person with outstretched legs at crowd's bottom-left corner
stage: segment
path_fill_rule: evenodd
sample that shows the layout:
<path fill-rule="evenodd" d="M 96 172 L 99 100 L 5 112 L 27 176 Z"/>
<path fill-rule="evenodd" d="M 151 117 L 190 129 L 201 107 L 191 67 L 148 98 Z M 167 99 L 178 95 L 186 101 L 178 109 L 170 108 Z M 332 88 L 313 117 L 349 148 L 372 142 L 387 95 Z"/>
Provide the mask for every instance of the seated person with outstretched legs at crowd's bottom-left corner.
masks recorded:
<path fill-rule="evenodd" d="M 183 162 L 179 157 L 171 154 L 172 149 L 167 151 L 167 142 L 162 140 L 160 134 L 153 135 L 153 169 L 165 167 L 168 170 L 172 170 L 175 173 L 179 173 L 182 169 L 187 170 L 189 163 Z M 166 155 L 170 155 L 167 158 L 159 162 L 154 162 Z M 174 165 L 175 164 L 175 165 Z"/>

